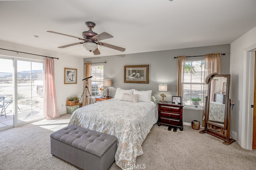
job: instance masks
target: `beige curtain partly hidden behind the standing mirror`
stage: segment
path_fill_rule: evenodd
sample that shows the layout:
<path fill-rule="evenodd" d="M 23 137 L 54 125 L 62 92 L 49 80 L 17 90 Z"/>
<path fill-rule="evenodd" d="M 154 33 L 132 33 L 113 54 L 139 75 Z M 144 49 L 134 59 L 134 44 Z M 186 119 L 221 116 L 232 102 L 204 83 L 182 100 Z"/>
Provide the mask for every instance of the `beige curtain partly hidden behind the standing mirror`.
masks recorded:
<path fill-rule="evenodd" d="M 206 54 L 205 55 L 205 66 L 204 66 L 204 80 L 206 76 L 213 72 L 220 74 L 221 66 L 221 53 Z M 207 96 L 208 84 L 204 84 L 204 98 Z M 205 106 L 206 101 L 203 100 L 203 105 Z M 202 127 L 204 127 L 204 116 L 205 116 L 205 107 L 203 107 L 202 113 Z"/>

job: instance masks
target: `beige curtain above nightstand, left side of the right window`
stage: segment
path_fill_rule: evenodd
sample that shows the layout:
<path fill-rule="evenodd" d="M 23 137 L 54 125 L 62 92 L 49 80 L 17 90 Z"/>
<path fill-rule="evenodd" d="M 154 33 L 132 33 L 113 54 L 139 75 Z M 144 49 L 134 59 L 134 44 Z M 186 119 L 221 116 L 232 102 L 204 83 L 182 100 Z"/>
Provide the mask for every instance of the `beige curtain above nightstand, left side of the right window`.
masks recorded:
<path fill-rule="evenodd" d="M 183 102 L 183 87 L 184 87 L 184 67 L 186 62 L 185 56 L 178 56 L 177 66 L 177 96 L 181 96 L 181 102 Z"/>

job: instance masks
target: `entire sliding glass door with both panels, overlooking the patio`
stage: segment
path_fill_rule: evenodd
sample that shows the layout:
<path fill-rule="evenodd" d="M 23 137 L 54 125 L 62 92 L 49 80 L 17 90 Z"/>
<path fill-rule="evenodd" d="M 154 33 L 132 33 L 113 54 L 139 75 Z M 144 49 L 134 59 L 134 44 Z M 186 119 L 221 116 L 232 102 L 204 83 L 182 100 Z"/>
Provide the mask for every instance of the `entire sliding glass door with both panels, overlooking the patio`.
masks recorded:
<path fill-rule="evenodd" d="M 0 56 L 0 131 L 43 119 L 44 106 L 44 62 Z"/>

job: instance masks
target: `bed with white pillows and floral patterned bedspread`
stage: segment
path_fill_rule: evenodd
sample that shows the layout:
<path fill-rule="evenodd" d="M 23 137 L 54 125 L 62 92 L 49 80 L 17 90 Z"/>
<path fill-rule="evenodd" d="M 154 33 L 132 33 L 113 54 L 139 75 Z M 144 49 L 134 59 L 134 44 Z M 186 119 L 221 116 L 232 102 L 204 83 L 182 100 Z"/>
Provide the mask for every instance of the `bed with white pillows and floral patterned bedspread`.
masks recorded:
<path fill-rule="evenodd" d="M 143 154 L 143 141 L 158 120 L 157 105 L 155 100 L 151 101 L 151 92 L 118 88 L 115 98 L 76 109 L 69 125 L 116 136 L 116 164 L 122 169 L 132 169 L 136 157 Z"/>

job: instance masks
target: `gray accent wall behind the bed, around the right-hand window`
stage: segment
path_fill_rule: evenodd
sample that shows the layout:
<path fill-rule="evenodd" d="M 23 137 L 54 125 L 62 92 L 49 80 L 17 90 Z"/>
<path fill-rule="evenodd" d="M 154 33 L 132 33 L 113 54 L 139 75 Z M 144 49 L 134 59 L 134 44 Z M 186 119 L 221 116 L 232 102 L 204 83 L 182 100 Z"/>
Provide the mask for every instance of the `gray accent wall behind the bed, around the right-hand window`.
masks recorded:
<path fill-rule="evenodd" d="M 102 47 L 104 48 L 104 47 Z M 85 58 L 84 63 L 106 62 L 104 64 L 104 79 L 112 80 L 112 87 L 109 87 L 110 96 L 114 97 L 116 88 L 152 90 L 152 96 L 157 100 L 162 100 L 158 92 L 159 84 L 168 84 L 166 101 L 172 101 L 172 96 L 176 96 L 177 87 L 177 59 L 174 57 L 197 56 L 210 53 L 225 53 L 222 56 L 221 74 L 229 74 L 230 67 L 230 44 L 214 45 L 207 47 L 194 47 L 186 49 L 174 49 L 165 51 L 153 51 L 146 53 L 134 53 L 126 55 L 115 55 L 105 57 Z M 187 57 L 190 59 L 204 59 L 204 57 Z M 149 65 L 149 83 L 124 83 L 125 65 Z M 183 122 L 191 123 L 192 120 L 198 120 L 202 123 L 202 109 L 188 108 L 183 109 Z"/>

